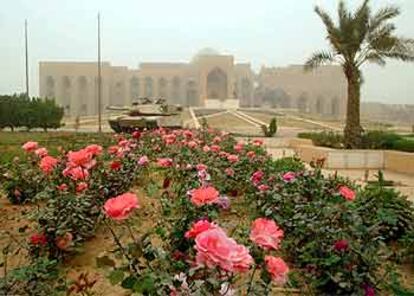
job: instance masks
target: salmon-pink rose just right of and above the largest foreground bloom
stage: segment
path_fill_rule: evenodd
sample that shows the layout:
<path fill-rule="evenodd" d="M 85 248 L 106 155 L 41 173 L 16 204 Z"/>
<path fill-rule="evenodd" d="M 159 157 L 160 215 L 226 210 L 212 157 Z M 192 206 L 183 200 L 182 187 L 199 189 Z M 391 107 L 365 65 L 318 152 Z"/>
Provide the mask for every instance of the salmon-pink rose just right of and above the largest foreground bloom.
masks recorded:
<path fill-rule="evenodd" d="M 265 218 L 258 218 L 253 221 L 250 239 L 263 249 L 279 249 L 282 238 L 283 230 L 276 225 L 275 221 Z"/>

